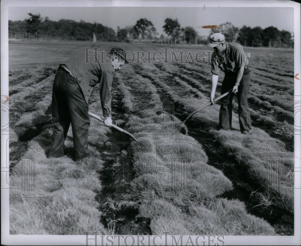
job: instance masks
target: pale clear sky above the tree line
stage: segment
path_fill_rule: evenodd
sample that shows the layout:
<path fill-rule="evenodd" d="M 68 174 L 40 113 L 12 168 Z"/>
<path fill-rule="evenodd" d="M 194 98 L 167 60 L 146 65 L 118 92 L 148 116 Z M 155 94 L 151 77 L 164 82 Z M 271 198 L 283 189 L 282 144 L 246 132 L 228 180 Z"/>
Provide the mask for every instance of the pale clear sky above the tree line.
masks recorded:
<path fill-rule="evenodd" d="M 172 2 L 172 1 L 171 1 Z M 74 5 L 70 5 L 74 6 Z M 190 5 L 191 6 L 191 5 Z M 193 6 L 193 5 L 192 5 Z M 234 5 L 239 6 L 239 5 Z M 241 28 L 243 25 L 263 29 L 275 26 L 278 30 L 294 31 L 293 8 L 288 7 L 9 7 L 9 20 L 24 20 L 27 13 L 40 14 L 50 20 L 70 19 L 101 23 L 117 30 L 135 25 L 140 18 L 150 20 L 157 32 L 165 34 L 162 26 L 166 18 L 178 18 L 181 27 L 192 26 L 199 35 L 209 35 L 209 29 L 200 26 L 220 25 L 231 22 Z"/>

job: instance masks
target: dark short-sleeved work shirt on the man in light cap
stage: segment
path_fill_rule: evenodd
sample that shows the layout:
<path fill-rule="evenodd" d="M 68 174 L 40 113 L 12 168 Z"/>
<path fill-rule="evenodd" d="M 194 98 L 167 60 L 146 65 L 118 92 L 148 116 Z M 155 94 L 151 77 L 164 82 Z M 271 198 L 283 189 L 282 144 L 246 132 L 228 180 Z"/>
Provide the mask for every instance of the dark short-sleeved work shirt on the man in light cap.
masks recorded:
<path fill-rule="evenodd" d="M 224 73 L 236 73 L 240 67 L 249 64 L 243 47 L 234 42 L 225 42 L 225 51 L 214 52 L 211 56 L 211 73 L 219 75 Z"/>

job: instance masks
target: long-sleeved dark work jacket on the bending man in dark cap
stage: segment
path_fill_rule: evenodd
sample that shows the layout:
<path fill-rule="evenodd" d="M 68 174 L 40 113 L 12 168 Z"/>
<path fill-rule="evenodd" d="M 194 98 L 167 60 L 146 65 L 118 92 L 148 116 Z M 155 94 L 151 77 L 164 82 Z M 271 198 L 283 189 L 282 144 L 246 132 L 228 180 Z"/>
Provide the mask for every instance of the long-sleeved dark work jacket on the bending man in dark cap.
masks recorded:
<path fill-rule="evenodd" d="M 92 89 L 99 83 L 103 115 L 104 117 L 110 117 L 111 89 L 115 70 L 111 63 L 100 63 L 96 57 L 90 54 L 87 56 L 84 50 L 68 59 L 64 64 L 61 64 L 61 66 L 67 66 L 70 73 L 76 79 L 87 104 Z"/>

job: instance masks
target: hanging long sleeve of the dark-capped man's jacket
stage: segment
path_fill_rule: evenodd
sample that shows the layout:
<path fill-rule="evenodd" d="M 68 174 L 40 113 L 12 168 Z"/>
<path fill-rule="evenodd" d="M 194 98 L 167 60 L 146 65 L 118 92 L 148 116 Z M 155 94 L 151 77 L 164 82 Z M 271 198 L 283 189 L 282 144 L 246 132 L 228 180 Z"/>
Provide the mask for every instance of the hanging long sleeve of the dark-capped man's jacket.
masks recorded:
<path fill-rule="evenodd" d="M 99 95 L 104 117 L 111 117 L 111 89 L 113 73 L 102 71 L 99 83 Z"/>

